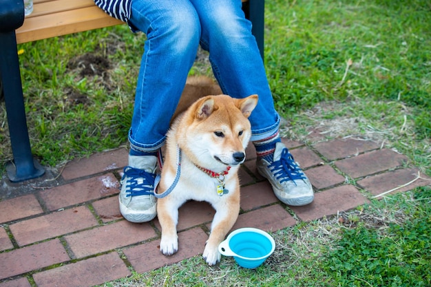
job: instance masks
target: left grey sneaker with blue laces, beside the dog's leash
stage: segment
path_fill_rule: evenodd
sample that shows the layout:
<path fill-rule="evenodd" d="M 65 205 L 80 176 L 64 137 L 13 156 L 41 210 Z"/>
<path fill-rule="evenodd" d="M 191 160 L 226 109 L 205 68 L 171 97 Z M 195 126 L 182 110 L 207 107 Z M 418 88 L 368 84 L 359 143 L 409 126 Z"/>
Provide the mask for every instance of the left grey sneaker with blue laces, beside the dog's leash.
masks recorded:
<path fill-rule="evenodd" d="M 129 156 L 121 178 L 120 212 L 129 222 L 148 222 L 157 215 L 154 197 L 156 156 Z"/>

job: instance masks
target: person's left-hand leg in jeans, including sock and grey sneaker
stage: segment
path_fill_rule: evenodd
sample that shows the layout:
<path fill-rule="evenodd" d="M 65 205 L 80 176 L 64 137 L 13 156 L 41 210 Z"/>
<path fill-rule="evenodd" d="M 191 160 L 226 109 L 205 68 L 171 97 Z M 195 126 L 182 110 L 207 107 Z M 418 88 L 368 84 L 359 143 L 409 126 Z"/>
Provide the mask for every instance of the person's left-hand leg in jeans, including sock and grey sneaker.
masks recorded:
<path fill-rule="evenodd" d="M 200 24 L 188 0 L 134 0 L 130 23 L 147 34 L 147 41 L 129 130 L 129 166 L 121 180 L 119 201 L 127 220 L 147 222 L 156 216 L 156 156 L 196 57 Z"/>

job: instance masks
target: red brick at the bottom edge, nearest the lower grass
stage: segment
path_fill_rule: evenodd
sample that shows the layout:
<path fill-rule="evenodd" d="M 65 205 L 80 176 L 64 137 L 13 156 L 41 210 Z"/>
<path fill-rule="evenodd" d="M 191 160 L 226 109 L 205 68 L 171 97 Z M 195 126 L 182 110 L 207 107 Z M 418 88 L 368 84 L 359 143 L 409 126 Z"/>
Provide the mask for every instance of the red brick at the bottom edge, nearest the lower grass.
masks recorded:
<path fill-rule="evenodd" d="M 33 275 L 38 287 L 87 287 L 130 276 L 117 253 L 108 253 Z"/>

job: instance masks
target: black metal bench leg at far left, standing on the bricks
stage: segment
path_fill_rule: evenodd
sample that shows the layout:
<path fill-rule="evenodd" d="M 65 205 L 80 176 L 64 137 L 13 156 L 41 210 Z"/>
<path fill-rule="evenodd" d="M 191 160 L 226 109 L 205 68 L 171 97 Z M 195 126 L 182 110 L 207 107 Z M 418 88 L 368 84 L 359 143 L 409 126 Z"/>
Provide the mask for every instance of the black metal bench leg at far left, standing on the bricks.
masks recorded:
<path fill-rule="evenodd" d="M 0 76 L 14 156 L 6 171 L 10 181 L 19 182 L 43 176 L 45 169 L 33 159 L 30 147 L 15 32 L 0 32 L 0 43 Z"/>

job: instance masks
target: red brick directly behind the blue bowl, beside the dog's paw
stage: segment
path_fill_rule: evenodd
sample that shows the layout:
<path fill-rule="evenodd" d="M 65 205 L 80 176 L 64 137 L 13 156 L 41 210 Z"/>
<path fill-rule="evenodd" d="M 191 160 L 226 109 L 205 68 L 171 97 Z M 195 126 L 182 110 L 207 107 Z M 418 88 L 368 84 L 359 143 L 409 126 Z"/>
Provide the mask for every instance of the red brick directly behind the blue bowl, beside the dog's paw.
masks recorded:
<path fill-rule="evenodd" d="M 242 227 L 260 228 L 264 231 L 277 231 L 296 224 L 295 219 L 280 204 L 266 206 L 242 213 L 232 230 Z"/>

